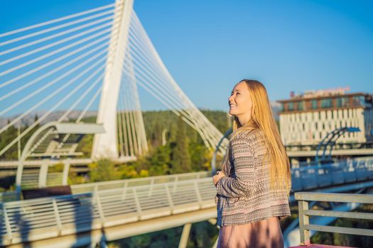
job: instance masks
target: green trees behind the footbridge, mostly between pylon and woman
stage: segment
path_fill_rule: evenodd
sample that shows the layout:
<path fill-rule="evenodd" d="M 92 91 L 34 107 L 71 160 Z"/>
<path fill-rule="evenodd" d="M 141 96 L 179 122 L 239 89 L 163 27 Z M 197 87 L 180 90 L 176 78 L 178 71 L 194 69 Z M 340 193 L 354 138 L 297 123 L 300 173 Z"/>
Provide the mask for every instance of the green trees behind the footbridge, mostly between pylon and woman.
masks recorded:
<path fill-rule="evenodd" d="M 221 133 L 227 131 L 229 126 L 227 113 L 222 111 L 202 111 L 202 113 Z M 126 164 L 113 164 L 107 159 L 94 162 L 89 165 L 91 169 L 89 176 L 70 175 L 71 182 L 81 184 L 210 169 L 212 150 L 207 149 L 198 132 L 180 117 L 171 111 L 147 111 L 143 113 L 143 118 L 148 140 L 148 154 Z M 92 140 L 92 135 L 86 135 L 77 150 L 89 157 Z"/>

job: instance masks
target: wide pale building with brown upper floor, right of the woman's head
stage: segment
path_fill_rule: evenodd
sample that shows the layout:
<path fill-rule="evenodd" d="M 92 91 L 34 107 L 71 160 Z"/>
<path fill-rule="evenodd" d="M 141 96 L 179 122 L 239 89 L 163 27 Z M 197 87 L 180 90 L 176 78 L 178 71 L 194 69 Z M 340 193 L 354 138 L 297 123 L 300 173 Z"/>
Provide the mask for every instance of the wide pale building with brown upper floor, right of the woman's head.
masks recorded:
<path fill-rule="evenodd" d="M 343 127 L 360 128 L 360 132 L 345 133 L 338 143 L 373 142 L 372 94 L 345 94 L 345 91 L 306 91 L 278 101 L 283 144 L 317 145 L 328 133 Z"/>

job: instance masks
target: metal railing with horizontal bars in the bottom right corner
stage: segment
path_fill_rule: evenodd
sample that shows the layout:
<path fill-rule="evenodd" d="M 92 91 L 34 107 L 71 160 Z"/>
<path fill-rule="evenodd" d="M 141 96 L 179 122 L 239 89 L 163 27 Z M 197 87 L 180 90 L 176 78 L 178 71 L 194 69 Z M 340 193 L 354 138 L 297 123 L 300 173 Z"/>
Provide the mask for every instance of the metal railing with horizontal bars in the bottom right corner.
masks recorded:
<path fill-rule="evenodd" d="M 373 230 L 353 227 L 334 227 L 328 225 L 311 225 L 310 217 L 337 217 L 353 218 L 360 220 L 373 220 L 373 213 L 342 212 L 333 210 L 311 210 L 308 209 L 309 201 L 327 201 L 337 203 L 369 203 L 373 204 L 373 195 L 356 193 L 295 193 L 298 200 L 299 229 L 301 234 L 301 244 L 310 244 L 310 230 L 320 232 L 337 232 L 351 235 L 373 236 Z"/>

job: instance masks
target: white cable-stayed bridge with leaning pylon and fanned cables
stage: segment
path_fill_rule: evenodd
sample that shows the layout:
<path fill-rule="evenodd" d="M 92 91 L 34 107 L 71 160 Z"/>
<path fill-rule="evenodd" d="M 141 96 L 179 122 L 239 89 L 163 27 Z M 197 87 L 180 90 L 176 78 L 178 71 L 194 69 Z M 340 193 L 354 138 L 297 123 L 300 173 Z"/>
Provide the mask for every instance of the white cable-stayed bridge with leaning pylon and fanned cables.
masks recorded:
<path fill-rule="evenodd" d="M 77 156 L 77 142 L 85 134 L 94 135 L 92 159 L 128 160 L 146 154 L 138 86 L 215 149 L 222 133 L 168 72 L 136 16 L 133 0 L 117 0 L 0 34 L 0 116 L 16 115 L 0 128 L 0 135 L 22 125 L 28 115 L 43 111 L 0 150 L 0 156 L 6 157 L 11 147 L 36 129 L 19 154 L 20 161 Z M 96 122 L 82 123 L 94 107 Z M 80 114 L 67 124 L 76 110 Z M 56 111 L 60 115 L 54 116 L 54 122 L 40 127 Z"/>

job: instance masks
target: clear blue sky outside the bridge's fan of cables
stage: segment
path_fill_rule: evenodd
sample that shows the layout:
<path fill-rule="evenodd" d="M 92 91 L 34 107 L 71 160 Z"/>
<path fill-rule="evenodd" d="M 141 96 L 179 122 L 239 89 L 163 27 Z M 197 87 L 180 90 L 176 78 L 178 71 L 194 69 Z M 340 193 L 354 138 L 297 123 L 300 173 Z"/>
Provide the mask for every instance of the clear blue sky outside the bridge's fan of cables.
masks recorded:
<path fill-rule="evenodd" d="M 290 91 L 373 91 L 373 1 L 135 0 L 166 67 L 200 108 L 227 110 L 240 79 Z M 0 1 L 0 33 L 112 3 Z M 146 106 L 146 103 L 144 103 Z"/>

